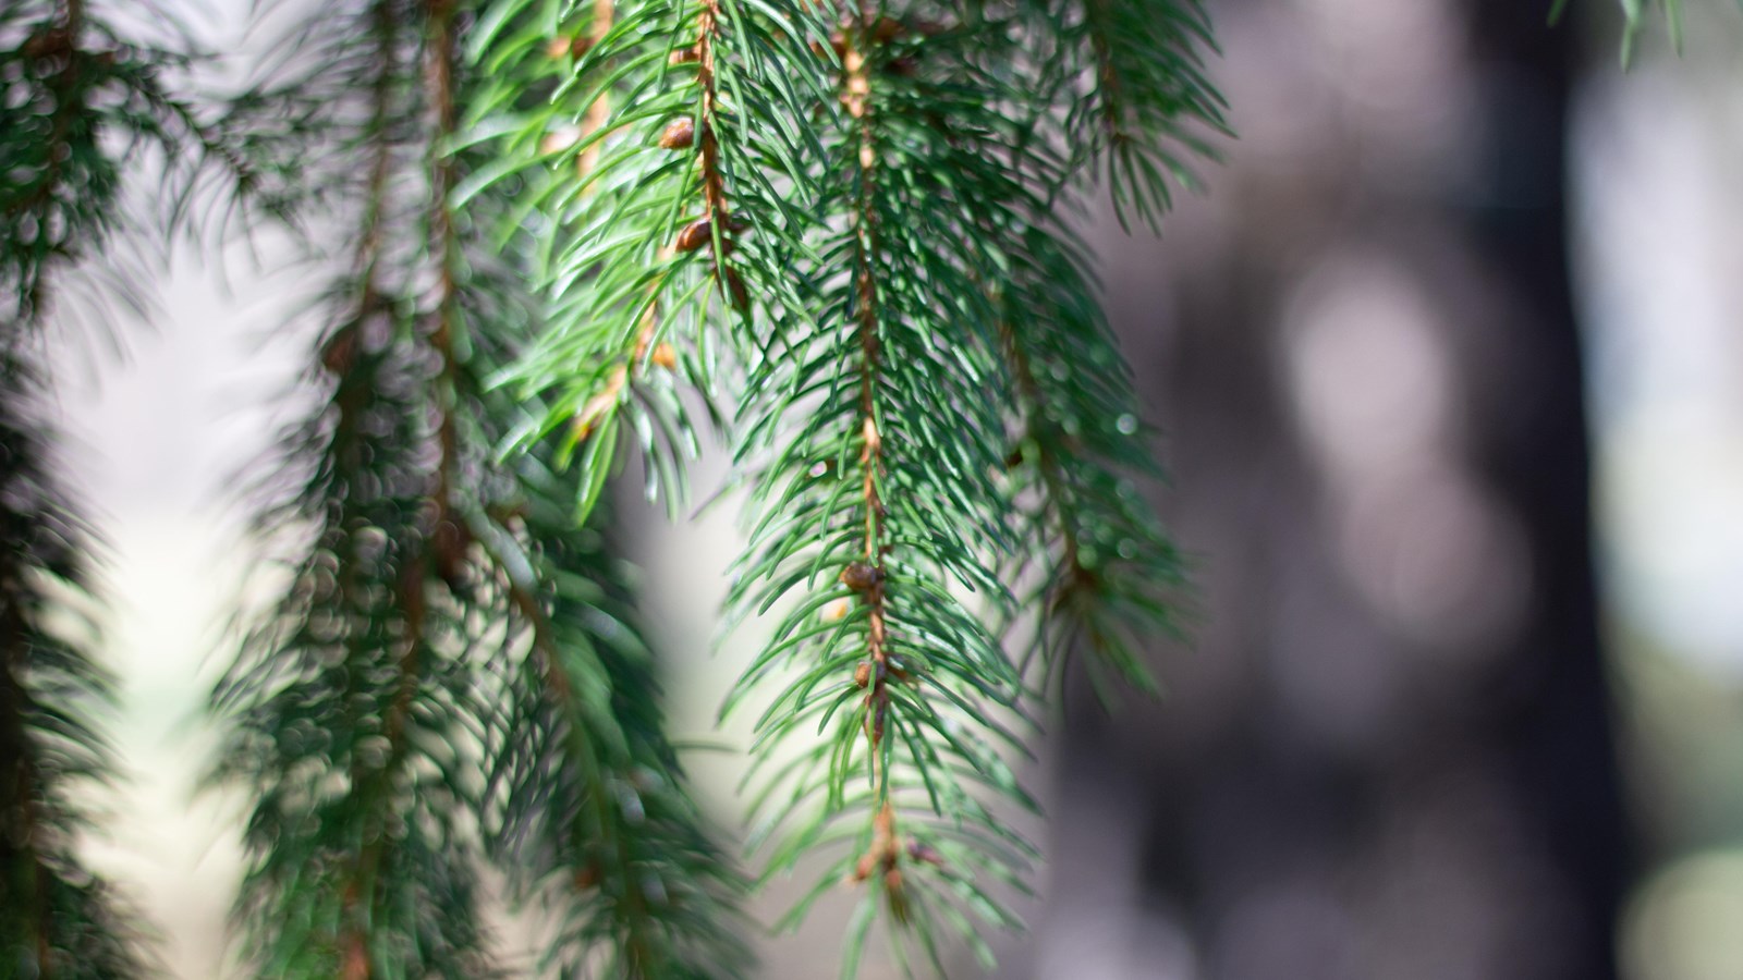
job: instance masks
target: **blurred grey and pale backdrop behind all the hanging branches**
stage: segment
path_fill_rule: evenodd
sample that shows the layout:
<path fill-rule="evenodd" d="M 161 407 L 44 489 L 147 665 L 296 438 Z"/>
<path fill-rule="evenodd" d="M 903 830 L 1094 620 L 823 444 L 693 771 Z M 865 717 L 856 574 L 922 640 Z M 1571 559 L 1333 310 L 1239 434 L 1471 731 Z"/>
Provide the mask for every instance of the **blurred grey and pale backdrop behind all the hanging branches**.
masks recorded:
<path fill-rule="evenodd" d="M 1604 0 L 1208 5 L 1241 140 L 1161 241 L 1089 230 L 1194 636 L 1157 640 L 1161 703 L 1068 687 L 999 977 L 1743 977 L 1743 16 L 1687 3 L 1682 58 L 1654 24 L 1624 75 Z M 204 0 L 221 51 L 246 7 Z M 124 678 L 91 847 L 185 978 L 223 971 L 239 860 L 234 800 L 190 802 L 234 474 L 307 342 L 227 269 L 180 255 L 159 326 L 59 375 Z M 678 729 L 741 745 L 730 509 L 624 513 Z M 722 759 L 692 769 L 730 823 Z M 833 977 L 837 935 L 767 975 Z"/>

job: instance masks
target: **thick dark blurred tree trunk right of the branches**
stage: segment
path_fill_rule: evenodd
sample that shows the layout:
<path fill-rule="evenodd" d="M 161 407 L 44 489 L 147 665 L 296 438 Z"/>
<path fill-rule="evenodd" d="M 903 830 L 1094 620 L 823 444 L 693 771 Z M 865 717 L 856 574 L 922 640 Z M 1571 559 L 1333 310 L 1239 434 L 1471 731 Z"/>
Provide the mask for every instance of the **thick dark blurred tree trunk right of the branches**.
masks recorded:
<path fill-rule="evenodd" d="M 1056 902 L 1016 975 L 1112 942 L 1122 966 L 1086 977 L 1616 977 L 1628 832 L 1567 270 L 1572 33 L 1541 7 L 1447 5 L 1457 84 L 1424 87 L 1424 126 L 1457 133 L 1424 150 L 1386 85 L 1312 80 L 1365 54 L 1316 47 L 1325 17 L 1213 5 L 1245 140 L 1168 241 L 1109 239 L 1201 626 L 1159 656 L 1159 708 L 1075 698 Z M 1443 408 L 1428 434 L 1407 424 L 1422 399 Z M 1088 943 L 1084 909 L 1129 931 Z"/>

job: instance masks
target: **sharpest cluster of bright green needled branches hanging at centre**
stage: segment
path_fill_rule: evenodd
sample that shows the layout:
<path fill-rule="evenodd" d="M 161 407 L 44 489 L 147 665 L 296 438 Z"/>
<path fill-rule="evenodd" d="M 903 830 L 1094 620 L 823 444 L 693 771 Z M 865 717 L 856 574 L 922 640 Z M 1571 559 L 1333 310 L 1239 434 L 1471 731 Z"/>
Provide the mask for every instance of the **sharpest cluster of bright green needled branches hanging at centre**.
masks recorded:
<path fill-rule="evenodd" d="M 729 621 L 781 610 L 725 704 L 762 701 L 763 877 L 823 858 L 784 922 L 866 882 L 849 971 L 878 909 L 905 963 L 938 968 L 945 935 L 988 959 L 974 921 L 1014 924 L 1002 900 L 1035 856 L 1006 807 L 1034 807 L 1011 759 L 1046 678 L 1084 645 L 1142 684 L 1131 643 L 1173 621 L 1177 560 L 1131 485 L 1154 469 L 1136 399 L 1055 208 L 1096 174 L 1122 214 L 1166 208 L 1175 146 L 1224 127 L 1203 16 L 627 2 L 603 33 L 549 9 L 546 45 L 512 30 L 525 9 L 481 31 L 511 80 L 474 129 L 535 174 L 519 218 L 553 256 L 551 331 L 509 375 L 551 392 L 528 432 L 570 425 L 586 511 L 622 425 L 650 493 L 680 487 L 680 392 L 716 424 L 715 385 L 737 392 L 751 541 Z M 999 642 L 1018 619 L 1021 663 Z"/>

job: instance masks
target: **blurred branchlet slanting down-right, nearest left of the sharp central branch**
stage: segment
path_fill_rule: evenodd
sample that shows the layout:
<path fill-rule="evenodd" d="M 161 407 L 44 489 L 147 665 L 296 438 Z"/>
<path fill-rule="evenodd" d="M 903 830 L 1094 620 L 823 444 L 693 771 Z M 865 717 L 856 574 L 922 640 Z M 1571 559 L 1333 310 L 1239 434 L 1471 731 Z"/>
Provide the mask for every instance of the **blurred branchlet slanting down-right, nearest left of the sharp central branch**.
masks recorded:
<path fill-rule="evenodd" d="M 683 790 L 622 568 L 573 527 L 573 476 L 549 453 L 516 471 L 518 516 L 483 539 L 516 610 L 486 725 L 486 827 L 516 895 L 563 910 L 540 973 L 741 977 L 746 882 Z"/>

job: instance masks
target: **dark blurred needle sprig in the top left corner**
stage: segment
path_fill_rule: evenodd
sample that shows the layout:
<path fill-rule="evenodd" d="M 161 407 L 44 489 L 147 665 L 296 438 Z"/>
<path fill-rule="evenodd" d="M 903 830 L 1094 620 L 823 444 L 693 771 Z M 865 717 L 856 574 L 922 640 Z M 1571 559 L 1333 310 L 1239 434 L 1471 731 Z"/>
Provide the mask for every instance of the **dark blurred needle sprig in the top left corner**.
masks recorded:
<path fill-rule="evenodd" d="M 58 316 L 63 326 L 85 314 L 87 326 L 112 330 L 119 309 L 146 305 L 146 263 L 159 256 L 138 249 L 230 230 L 239 204 L 265 206 L 253 167 L 207 106 L 164 85 L 190 61 L 181 49 L 192 42 L 176 44 L 136 44 L 80 0 L 14 0 L 0 12 L 0 316 L 33 323 L 47 281 L 101 255 L 103 288 L 64 289 Z M 122 173 L 141 160 L 160 169 L 155 213 L 119 194 Z"/>

